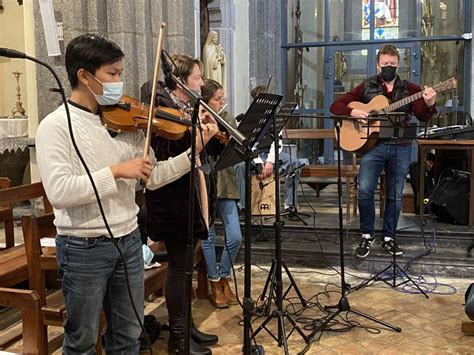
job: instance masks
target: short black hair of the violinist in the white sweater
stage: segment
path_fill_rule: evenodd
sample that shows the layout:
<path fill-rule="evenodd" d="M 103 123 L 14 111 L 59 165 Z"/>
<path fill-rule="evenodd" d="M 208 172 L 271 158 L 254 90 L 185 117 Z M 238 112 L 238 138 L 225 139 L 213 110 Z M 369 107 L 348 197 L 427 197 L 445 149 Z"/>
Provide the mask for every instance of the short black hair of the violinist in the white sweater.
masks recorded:
<path fill-rule="evenodd" d="M 66 49 L 66 70 L 71 87 L 74 89 L 79 84 L 79 69 L 95 75 L 102 65 L 115 63 L 123 57 L 120 47 L 100 34 L 87 33 L 74 38 Z"/>

